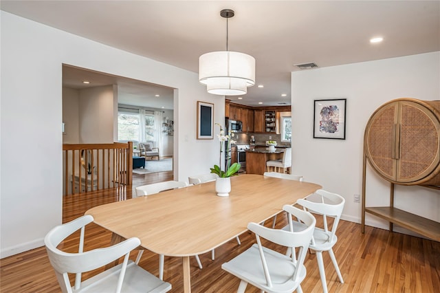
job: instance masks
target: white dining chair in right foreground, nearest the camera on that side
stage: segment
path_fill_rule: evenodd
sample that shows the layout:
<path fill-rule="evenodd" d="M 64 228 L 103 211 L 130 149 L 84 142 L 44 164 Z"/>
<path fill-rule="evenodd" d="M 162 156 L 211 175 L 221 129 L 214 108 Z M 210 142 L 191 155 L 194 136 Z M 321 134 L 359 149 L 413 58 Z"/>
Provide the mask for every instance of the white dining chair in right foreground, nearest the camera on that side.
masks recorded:
<path fill-rule="evenodd" d="M 311 213 L 294 206 L 283 206 L 283 210 L 289 214 L 289 221 L 292 222 L 292 215 L 294 215 L 301 219 L 307 228 L 301 231 L 285 231 L 267 228 L 256 223 L 248 224 L 248 229 L 255 233 L 256 244 L 221 265 L 223 270 L 241 279 L 237 292 L 245 292 L 248 283 L 263 292 L 293 292 L 294 290 L 303 292 L 300 284 L 307 274 L 304 260 L 316 219 Z M 261 237 L 292 251 L 298 248 L 298 257 L 296 253 L 287 256 L 265 248 L 261 244 Z"/>

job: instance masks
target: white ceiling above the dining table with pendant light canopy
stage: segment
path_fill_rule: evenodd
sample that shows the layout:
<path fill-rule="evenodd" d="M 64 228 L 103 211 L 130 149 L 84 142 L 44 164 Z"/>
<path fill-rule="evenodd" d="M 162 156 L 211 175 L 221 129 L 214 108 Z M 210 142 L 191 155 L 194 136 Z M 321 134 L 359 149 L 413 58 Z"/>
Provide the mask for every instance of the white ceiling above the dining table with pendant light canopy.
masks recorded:
<path fill-rule="evenodd" d="M 290 73 L 301 70 L 297 64 L 329 67 L 440 50 L 440 1 L 2 0 L 0 5 L 12 14 L 192 72 L 198 72 L 201 54 L 225 50 L 226 21 L 220 10 L 230 8 L 235 16 L 228 21 L 229 50 L 254 56 L 256 85 L 264 87 L 249 87 L 242 100 L 227 98 L 250 106 L 290 105 Z M 384 41 L 371 44 L 375 36 Z M 69 69 L 74 86 L 80 72 Z M 133 87 L 137 81 L 111 80 L 129 88 L 129 100 L 139 97 Z M 172 98 L 172 89 L 139 85 L 150 94 L 162 89 L 159 98 L 168 91 Z"/>

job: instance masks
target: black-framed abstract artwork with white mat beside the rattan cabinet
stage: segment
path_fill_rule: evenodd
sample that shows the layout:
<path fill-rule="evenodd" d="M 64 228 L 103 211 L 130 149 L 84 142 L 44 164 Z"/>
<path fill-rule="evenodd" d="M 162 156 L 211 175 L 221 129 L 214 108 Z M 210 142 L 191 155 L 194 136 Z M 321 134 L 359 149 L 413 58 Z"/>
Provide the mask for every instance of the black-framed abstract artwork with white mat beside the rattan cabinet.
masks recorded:
<path fill-rule="evenodd" d="M 347 99 L 315 100 L 314 138 L 345 139 Z"/>

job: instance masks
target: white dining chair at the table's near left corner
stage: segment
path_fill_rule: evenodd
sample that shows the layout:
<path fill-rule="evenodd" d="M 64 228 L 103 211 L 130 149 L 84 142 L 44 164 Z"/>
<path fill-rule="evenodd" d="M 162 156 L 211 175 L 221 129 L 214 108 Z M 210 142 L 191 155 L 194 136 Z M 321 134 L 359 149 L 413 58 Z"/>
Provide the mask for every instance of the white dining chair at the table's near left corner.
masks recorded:
<path fill-rule="evenodd" d="M 85 226 L 92 221 L 94 217 L 85 215 L 56 226 L 45 236 L 47 256 L 55 270 L 62 292 L 168 292 L 171 290 L 170 283 L 159 280 L 129 260 L 131 250 L 140 246 L 140 239 L 137 237 L 126 239 L 110 247 L 84 252 Z M 57 248 L 64 239 L 77 230 L 80 230 L 77 253 L 64 252 Z M 124 261 L 119 265 L 85 281 L 81 280 L 83 272 L 101 268 L 120 257 L 124 257 Z M 70 285 L 69 273 L 76 274 L 73 287 Z"/>

